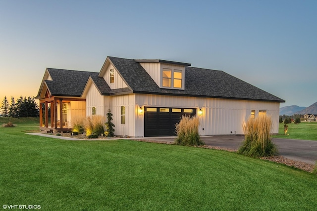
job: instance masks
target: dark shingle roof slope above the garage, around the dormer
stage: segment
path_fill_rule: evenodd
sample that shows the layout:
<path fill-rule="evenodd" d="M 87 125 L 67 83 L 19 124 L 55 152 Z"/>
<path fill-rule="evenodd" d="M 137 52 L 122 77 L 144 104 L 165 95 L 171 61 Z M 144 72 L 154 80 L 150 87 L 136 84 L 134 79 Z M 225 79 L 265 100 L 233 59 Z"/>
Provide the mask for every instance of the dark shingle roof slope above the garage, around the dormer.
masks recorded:
<path fill-rule="evenodd" d="M 108 57 L 134 93 L 285 102 L 223 71 L 185 66 L 185 89 L 163 89 L 133 59 Z"/>

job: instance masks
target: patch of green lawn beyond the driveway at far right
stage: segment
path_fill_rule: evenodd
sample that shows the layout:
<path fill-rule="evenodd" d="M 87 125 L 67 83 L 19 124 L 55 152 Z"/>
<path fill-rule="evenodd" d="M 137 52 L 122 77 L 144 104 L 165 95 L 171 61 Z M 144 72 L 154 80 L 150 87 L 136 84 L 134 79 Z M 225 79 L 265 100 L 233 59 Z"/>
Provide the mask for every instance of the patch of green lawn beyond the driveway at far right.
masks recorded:
<path fill-rule="evenodd" d="M 284 135 L 284 123 L 278 126 L 278 135 L 273 135 L 275 138 L 288 139 L 303 139 L 303 140 L 317 140 L 317 123 L 305 123 L 295 125 L 294 123 L 287 124 L 287 135 Z"/>

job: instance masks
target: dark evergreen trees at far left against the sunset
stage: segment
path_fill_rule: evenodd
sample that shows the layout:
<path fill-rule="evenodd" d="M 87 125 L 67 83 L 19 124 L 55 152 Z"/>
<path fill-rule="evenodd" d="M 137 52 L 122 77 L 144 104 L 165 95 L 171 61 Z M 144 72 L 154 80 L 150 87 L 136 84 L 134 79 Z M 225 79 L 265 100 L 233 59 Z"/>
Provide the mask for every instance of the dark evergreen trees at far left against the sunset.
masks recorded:
<path fill-rule="evenodd" d="M 40 108 L 34 97 L 20 96 L 17 101 L 11 97 L 11 103 L 7 100 L 6 96 L 1 102 L 0 116 L 2 117 L 39 117 Z"/>

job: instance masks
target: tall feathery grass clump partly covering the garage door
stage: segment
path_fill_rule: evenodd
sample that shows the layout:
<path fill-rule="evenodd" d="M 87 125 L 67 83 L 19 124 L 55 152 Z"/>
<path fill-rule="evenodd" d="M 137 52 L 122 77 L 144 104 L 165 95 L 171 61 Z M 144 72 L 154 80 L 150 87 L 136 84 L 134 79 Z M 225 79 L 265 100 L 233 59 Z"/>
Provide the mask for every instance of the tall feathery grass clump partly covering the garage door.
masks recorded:
<path fill-rule="evenodd" d="M 204 141 L 199 135 L 199 119 L 198 117 L 182 116 L 179 123 L 176 123 L 177 138 L 175 144 L 184 146 L 204 145 Z"/>

